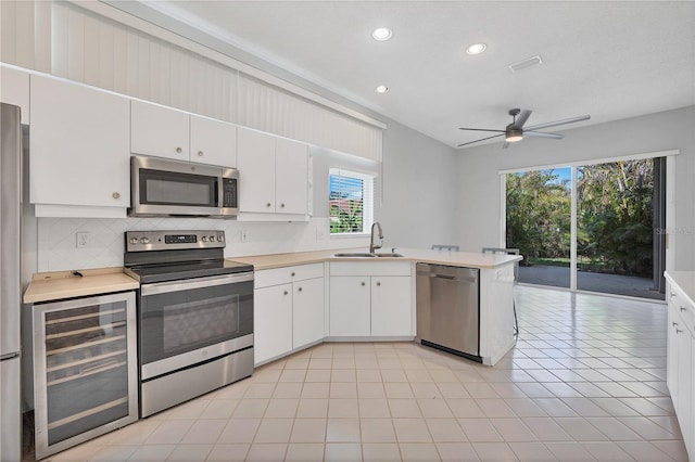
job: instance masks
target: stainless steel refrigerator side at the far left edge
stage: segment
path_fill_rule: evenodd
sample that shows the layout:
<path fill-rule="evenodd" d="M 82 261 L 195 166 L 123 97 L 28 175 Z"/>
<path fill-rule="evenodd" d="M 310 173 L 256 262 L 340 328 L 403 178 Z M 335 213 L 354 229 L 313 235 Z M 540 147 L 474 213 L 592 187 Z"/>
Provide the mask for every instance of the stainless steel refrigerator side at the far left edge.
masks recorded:
<path fill-rule="evenodd" d="M 20 107 L 0 103 L 0 461 L 22 460 Z"/>

